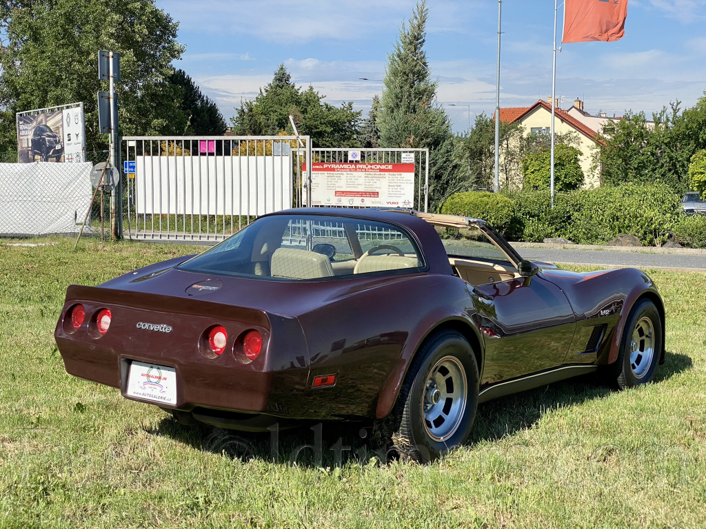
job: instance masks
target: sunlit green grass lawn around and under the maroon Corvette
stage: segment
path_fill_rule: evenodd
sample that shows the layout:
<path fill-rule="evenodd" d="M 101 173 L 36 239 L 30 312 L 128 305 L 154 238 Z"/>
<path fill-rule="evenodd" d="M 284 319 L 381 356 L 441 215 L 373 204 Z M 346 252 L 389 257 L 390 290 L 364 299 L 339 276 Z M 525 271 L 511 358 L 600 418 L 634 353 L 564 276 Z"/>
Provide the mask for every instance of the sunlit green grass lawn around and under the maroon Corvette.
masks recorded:
<path fill-rule="evenodd" d="M 704 274 L 648 271 L 667 314 L 654 384 L 486 403 L 467 445 L 429 466 L 381 465 L 359 425 L 326 423 L 321 466 L 311 449 L 293 465 L 307 426 L 280 432 L 273 463 L 267 437 L 184 427 L 64 370 L 66 286 L 203 247 L 54 241 L 0 244 L 0 528 L 706 526 Z"/>

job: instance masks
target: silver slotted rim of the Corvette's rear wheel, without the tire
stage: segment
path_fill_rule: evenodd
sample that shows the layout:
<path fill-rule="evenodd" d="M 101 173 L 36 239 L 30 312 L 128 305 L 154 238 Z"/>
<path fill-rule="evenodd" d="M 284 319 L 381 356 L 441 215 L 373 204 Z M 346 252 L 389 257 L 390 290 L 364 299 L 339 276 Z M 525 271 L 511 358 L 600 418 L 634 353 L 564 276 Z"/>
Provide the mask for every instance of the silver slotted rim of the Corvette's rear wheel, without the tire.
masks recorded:
<path fill-rule="evenodd" d="M 443 441 L 458 429 L 466 410 L 466 371 L 455 356 L 441 358 L 424 383 L 421 410 L 429 437 Z"/>

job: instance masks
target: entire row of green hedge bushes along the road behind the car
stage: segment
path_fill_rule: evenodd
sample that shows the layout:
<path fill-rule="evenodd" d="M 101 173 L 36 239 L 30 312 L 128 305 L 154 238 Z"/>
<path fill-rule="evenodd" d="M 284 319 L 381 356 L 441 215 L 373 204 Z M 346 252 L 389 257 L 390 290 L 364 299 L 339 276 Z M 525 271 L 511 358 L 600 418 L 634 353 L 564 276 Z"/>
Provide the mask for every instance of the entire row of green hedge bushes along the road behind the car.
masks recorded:
<path fill-rule="evenodd" d="M 553 208 L 548 190 L 517 195 L 469 191 L 449 197 L 441 212 L 485 219 L 511 241 L 562 237 L 600 244 L 629 233 L 644 245 L 661 245 L 666 233 L 676 230 L 683 243 L 694 246 L 706 237 L 702 221 L 683 217 L 679 197 L 662 183 L 556 193 Z"/>

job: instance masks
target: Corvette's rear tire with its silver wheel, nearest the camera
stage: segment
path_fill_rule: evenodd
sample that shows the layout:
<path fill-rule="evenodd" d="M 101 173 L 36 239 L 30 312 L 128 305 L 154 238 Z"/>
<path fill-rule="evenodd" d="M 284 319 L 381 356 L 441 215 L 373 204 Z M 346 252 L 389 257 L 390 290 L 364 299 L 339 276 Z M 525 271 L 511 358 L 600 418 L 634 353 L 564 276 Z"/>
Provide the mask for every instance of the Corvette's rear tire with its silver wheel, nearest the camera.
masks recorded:
<path fill-rule="evenodd" d="M 444 375 L 444 370 L 448 375 Z M 430 382 L 432 374 L 436 381 L 440 382 L 441 377 L 444 383 Z M 436 402 L 432 404 L 433 399 Z M 448 453 L 468 439 L 477 406 L 478 365 L 473 348 L 457 331 L 429 336 L 417 352 L 390 413 L 390 418 L 398 421 L 392 428 L 397 454 L 403 460 L 428 463 Z M 434 416 L 432 424 L 429 419 Z"/>

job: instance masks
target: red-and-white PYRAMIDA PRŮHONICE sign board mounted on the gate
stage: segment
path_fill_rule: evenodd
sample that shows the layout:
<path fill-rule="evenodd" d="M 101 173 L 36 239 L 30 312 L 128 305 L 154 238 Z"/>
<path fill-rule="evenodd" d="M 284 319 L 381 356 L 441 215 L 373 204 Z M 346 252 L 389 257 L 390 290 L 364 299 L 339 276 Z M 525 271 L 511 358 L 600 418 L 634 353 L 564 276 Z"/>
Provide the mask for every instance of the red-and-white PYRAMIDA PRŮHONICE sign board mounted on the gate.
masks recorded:
<path fill-rule="evenodd" d="M 414 164 L 315 163 L 312 169 L 314 206 L 412 207 L 414 202 Z"/>

